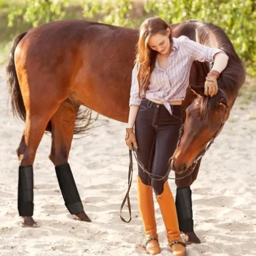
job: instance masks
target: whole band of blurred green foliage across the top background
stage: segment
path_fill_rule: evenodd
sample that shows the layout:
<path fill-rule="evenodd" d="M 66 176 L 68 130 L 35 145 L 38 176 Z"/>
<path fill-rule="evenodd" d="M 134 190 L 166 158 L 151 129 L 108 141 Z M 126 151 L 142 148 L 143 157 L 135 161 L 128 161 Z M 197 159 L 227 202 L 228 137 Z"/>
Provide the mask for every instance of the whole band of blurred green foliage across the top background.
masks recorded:
<path fill-rule="evenodd" d="M 68 13 L 71 1 L 23 0 L 22 3 L 12 5 L 9 26 L 18 26 L 20 22 L 38 26 L 52 20 L 72 18 Z M 80 8 L 81 16 L 86 19 L 130 28 L 138 27 L 146 16 L 159 16 L 169 24 L 190 18 L 212 22 L 226 32 L 247 72 L 256 76 L 255 0 L 145 0 L 140 14 L 134 8 L 137 1 L 77 0 L 72 3 Z M 0 4 L 6 7 L 5 1 L 0 0 Z"/>

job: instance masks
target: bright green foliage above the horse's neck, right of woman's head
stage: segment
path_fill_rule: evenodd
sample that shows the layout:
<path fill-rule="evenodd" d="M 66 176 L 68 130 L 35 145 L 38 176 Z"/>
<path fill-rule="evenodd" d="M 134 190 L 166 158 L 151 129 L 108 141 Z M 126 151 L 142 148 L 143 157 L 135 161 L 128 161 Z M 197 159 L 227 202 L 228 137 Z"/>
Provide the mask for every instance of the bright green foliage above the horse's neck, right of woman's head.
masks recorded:
<path fill-rule="evenodd" d="M 147 0 L 145 10 L 153 11 L 168 23 L 193 18 L 219 26 L 232 41 L 247 72 L 256 76 L 255 0 Z"/>

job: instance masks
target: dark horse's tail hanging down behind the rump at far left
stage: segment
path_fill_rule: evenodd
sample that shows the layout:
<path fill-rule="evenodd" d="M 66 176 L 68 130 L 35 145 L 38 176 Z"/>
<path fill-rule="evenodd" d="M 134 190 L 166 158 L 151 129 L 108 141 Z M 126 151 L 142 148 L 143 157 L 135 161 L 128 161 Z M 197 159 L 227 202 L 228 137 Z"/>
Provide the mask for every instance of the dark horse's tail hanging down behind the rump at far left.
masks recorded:
<path fill-rule="evenodd" d="M 7 87 L 11 96 L 11 105 L 13 107 L 13 115 L 19 116 L 23 121 L 26 120 L 26 109 L 24 101 L 22 99 L 20 86 L 18 84 L 18 77 L 16 73 L 14 63 L 14 51 L 22 38 L 28 33 L 28 31 L 19 34 L 14 38 L 13 45 L 11 48 L 11 54 L 7 61 L 6 72 L 7 72 Z"/>

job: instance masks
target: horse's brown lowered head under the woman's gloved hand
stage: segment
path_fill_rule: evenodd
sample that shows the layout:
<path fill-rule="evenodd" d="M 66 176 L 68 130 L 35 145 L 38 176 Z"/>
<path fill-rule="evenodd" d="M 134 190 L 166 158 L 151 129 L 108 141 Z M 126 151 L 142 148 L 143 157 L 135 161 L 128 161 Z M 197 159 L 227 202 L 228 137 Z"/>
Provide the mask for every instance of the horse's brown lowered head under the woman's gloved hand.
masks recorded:
<path fill-rule="evenodd" d="M 170 159 L 172 170 L 181 174 L 199 157 L 202 151 L 222 129 L 228 118 L 228 99 L 218 90 L 214 97 L 206 97 L 204 87 L 192 88 L 197 98 L 186 109 L 183 136 Z"/>

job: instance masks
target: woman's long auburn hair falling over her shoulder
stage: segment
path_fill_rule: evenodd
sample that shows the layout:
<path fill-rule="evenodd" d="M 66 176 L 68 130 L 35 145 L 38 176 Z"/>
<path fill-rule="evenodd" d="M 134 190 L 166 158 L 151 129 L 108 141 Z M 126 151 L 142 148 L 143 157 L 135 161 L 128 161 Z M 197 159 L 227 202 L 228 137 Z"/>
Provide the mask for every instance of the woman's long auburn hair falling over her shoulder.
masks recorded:
<path fill-rule="evenodd" d="M 170 28 L 165 20 L 161 18 L 147 18 L 140 26 L 140 37 L 136 45 L 136 60 L 138 64 L 138 83 L 139 95 L 149 89 L 149 79 L 153 69 L 155 68 L 155 61 L 157 59 L 157 51 L 151 49 L 149 46 L 149 38 L 155 34 L 166 35 L 166 28 Z M 172 35 L 169 36 L 170 47 L 172 47 Z"/>

